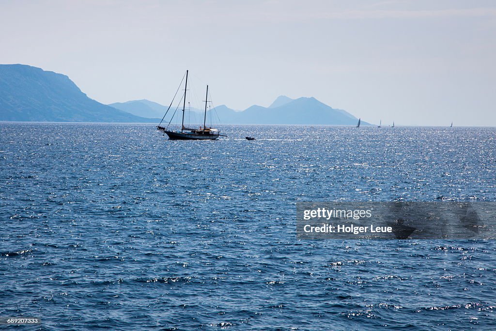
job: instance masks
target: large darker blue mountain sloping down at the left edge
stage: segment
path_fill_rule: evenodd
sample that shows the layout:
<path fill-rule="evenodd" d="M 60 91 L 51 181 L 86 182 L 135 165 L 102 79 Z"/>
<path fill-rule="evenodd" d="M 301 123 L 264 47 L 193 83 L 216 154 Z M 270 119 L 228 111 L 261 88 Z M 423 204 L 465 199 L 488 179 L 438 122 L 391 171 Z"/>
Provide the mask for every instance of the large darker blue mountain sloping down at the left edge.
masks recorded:
<path fill-rule="evenodd" d="M 156 122 L 90 99 L 66 75 L 0 65 L 0 121 Z"/>

